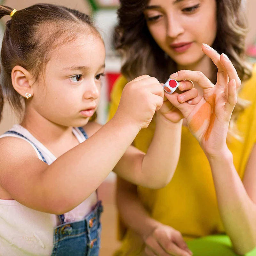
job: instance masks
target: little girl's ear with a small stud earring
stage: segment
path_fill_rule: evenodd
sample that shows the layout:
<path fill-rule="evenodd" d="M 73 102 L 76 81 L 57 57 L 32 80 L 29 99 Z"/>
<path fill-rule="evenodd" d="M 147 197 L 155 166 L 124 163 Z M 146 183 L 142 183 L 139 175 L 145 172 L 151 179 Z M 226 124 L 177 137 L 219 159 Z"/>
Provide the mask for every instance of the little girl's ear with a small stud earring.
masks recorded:
<path fill-rule="evenodd" d="M 27 92 L 33 96 L 33 83 L 33 76 L 27 69 L 22 68 L 21 66 L 12 68 L 12 86 L 21 96 L 26 97 L 25 95 Z"/>

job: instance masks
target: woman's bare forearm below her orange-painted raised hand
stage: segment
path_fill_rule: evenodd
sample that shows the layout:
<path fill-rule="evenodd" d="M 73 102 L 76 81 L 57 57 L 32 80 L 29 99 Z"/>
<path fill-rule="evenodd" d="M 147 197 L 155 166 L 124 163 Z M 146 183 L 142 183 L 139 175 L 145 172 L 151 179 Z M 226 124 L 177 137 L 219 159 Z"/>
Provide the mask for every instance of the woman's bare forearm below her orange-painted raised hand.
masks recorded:
<path fill-rule="evenodd" d="M 245 254 L 256 246 L 256 206 L 236 172 L 228 148 L 210 157 L 209 163 L 224 227 L 235 251 Z"/>

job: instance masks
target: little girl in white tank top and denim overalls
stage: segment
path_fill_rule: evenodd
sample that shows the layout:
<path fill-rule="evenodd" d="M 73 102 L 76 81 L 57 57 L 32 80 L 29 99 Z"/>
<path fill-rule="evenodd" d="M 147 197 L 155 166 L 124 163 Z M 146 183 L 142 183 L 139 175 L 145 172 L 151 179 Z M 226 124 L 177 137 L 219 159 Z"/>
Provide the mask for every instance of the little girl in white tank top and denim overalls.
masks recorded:
<path fill-rule="evenodd" d="M 0 139 L 0 255 L 98 255 L 102 206 L 95 190 L 113 169 L 135 184 L 166 185 L 178 162 L 181 122 L 170 121 L 173 106 L 163 104 L 162 85 L 147 75 L 127 84 L 108 124 L 89 122 L 105 66 L 90 18 L 52 4 L 20 11 L 0 6 L 4 15 L 12 18 L 1 89 L 24 116 Z M 191 100 L 197 90 L 184 96 Z M 145 155 L 130 145 L 160 108 Z"/>

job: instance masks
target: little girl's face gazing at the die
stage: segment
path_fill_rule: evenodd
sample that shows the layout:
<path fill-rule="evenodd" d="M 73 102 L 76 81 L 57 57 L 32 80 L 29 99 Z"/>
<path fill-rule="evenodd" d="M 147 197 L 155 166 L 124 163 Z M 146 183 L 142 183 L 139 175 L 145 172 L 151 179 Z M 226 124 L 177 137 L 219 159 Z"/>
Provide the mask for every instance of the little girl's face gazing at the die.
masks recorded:
<path fill-rule="evenodd" d="M 44 81 L 35 84 L 33 108 L 55 124 L 87 124 L 100 100 L 104 70 L 105 47 L 94 34 L 78 36 L 55 48 Z"/>

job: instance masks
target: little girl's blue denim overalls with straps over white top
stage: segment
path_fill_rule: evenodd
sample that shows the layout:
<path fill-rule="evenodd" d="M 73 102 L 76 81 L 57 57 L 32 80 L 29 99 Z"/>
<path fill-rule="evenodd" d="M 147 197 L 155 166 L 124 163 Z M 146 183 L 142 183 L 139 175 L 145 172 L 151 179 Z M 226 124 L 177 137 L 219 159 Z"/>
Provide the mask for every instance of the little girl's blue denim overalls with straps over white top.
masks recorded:
<path fill-rule="evenodd" d="M 84 129 L 79 127 L 79 130 L 83 133 L 85 139 L 88 139 Z M 28 140 L 24 135 L 15 131 L 6 133 L 13 133 Z M 43 161 L 47 164 L 36 145 L 30 140 L 28 141 L 35 146 Z M 51 256 L 98 256 L 100 251 L 101 212 L 103 212 L 103 207 L 101 201 L 98 200 L 94 209 L 84 217 L 84 220 L 65 222 L 64 215 L 58 215 L 61 224 L 53 231 Z"/>

